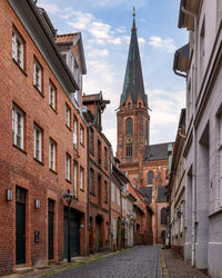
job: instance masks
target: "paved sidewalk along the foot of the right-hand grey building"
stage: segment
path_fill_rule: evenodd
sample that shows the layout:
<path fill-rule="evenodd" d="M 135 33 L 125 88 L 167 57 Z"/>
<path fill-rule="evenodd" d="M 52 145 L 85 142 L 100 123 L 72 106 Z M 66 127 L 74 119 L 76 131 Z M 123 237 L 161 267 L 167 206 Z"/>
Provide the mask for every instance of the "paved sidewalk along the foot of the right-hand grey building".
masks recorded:
<path fill-rule="evenodd" d="M 170 249 L 162 249 L 168 271 L 171 278 L 206 278 L 204 274 L 179 257 L 179 255 Z M 165 276 L 169 277 L 169 276 Z M 164 276 L 163 276 L 164 278 Z"/>

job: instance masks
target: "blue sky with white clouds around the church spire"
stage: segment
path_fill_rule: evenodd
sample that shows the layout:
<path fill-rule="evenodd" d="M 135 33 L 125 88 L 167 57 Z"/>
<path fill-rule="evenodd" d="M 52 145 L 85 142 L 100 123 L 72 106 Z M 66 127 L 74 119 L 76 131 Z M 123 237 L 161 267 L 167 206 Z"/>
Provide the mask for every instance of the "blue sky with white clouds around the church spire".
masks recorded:
<path fill-rule="evenodd" d="M 180 0 L 39 0 L 58 33 L 81 32 L 87 75 L 83 92 L 102 91 L 111 101 L 102 115 L 103 133 L 117 149 L 117 112 L 128 59 L 133 6 L 150 115 L 150 143 L 175 140 L 185 80 L 172 70 L 176 49 L 188 43 L 178 29 Z"/>

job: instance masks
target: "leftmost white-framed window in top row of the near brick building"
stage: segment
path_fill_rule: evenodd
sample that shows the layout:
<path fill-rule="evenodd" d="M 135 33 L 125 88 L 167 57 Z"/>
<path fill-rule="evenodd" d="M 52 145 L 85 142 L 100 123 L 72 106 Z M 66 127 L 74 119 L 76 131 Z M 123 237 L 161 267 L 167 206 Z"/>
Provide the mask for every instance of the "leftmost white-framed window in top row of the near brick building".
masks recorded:
<path fill-rule="evenodd" d="M 24 69 L 24 41 L 14 29 L 12 31 L 12 58 L 21 69 Z"/>

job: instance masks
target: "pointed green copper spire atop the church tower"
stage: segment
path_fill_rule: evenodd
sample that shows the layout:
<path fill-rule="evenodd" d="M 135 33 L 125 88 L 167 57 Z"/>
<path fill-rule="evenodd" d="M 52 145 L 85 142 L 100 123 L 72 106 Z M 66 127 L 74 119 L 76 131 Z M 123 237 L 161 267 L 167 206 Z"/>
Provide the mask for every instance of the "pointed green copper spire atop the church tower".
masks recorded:
<path fill-rule="evenodd" d="M 139 96 L 148 105 L 148 96 L 144 92 L 142 67 L 140 61 L 140 50 L 138 44 L 137 27 L 135 27 L 135 10 L 133 7 L 133 23 L 131 28 L 130 49 L 128 54 L 128 63 L 125 69 L 124 85 L 121 95 L 122 105 L 125 103 L 128 95 L 131 96 L 135 103 Z"/>

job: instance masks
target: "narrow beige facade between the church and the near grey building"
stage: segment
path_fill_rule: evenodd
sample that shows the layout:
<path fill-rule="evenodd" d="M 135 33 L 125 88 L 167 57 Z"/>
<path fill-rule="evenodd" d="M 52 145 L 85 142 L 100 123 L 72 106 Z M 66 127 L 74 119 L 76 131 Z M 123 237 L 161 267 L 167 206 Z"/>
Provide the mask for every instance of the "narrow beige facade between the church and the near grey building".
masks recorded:
<path fill-rule="evenodd" d="M 169 179 L 170 245 L 184 258 L 185 242 L 185 109 L 181 110 Z"/>

